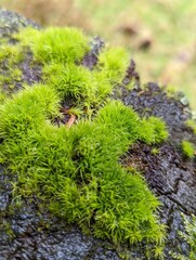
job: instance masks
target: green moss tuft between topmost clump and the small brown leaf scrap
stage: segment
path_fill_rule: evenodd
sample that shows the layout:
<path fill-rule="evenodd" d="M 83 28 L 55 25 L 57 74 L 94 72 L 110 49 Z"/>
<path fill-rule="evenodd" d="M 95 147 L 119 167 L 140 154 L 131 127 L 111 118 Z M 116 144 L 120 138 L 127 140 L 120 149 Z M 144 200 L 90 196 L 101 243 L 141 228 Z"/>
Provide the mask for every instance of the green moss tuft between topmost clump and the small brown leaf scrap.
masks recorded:
<path fill-rule="evenodd" d="M 52 63 L 44 66 L 44 81 L 57 90 L 63 99 L 74 98 L 76 104 L 95 108 L 113 90 L 105 74 L 90 72 L 75 64 Z"/>

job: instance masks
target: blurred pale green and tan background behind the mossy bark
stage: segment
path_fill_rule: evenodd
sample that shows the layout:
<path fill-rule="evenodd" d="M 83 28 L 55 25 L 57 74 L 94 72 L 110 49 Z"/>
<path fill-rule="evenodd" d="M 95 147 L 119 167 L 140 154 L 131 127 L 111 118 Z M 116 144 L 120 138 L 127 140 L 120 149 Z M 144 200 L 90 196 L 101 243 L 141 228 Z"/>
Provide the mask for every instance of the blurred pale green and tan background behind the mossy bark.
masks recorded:
<path fill-rule="evenodd" d="M 0 0 L 0 8 L 128 48 L 142 83 L 181 90 L 196 109 L 195 0 Z"/>

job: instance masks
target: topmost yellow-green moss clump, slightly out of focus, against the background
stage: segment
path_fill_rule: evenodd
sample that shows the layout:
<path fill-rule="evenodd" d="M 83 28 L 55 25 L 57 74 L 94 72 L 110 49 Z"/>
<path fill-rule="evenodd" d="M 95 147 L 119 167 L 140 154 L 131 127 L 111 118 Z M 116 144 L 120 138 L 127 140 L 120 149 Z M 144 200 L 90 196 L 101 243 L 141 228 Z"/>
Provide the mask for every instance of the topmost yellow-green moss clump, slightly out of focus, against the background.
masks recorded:
<path fill-rule="evenodd" d="M 27 28 L 16 36 L 24 46 L 30 46 L 42 63 L 79 62 L 89 50 L 88 38 L 76 28 L 47 28 L 42 31 Z"/>

